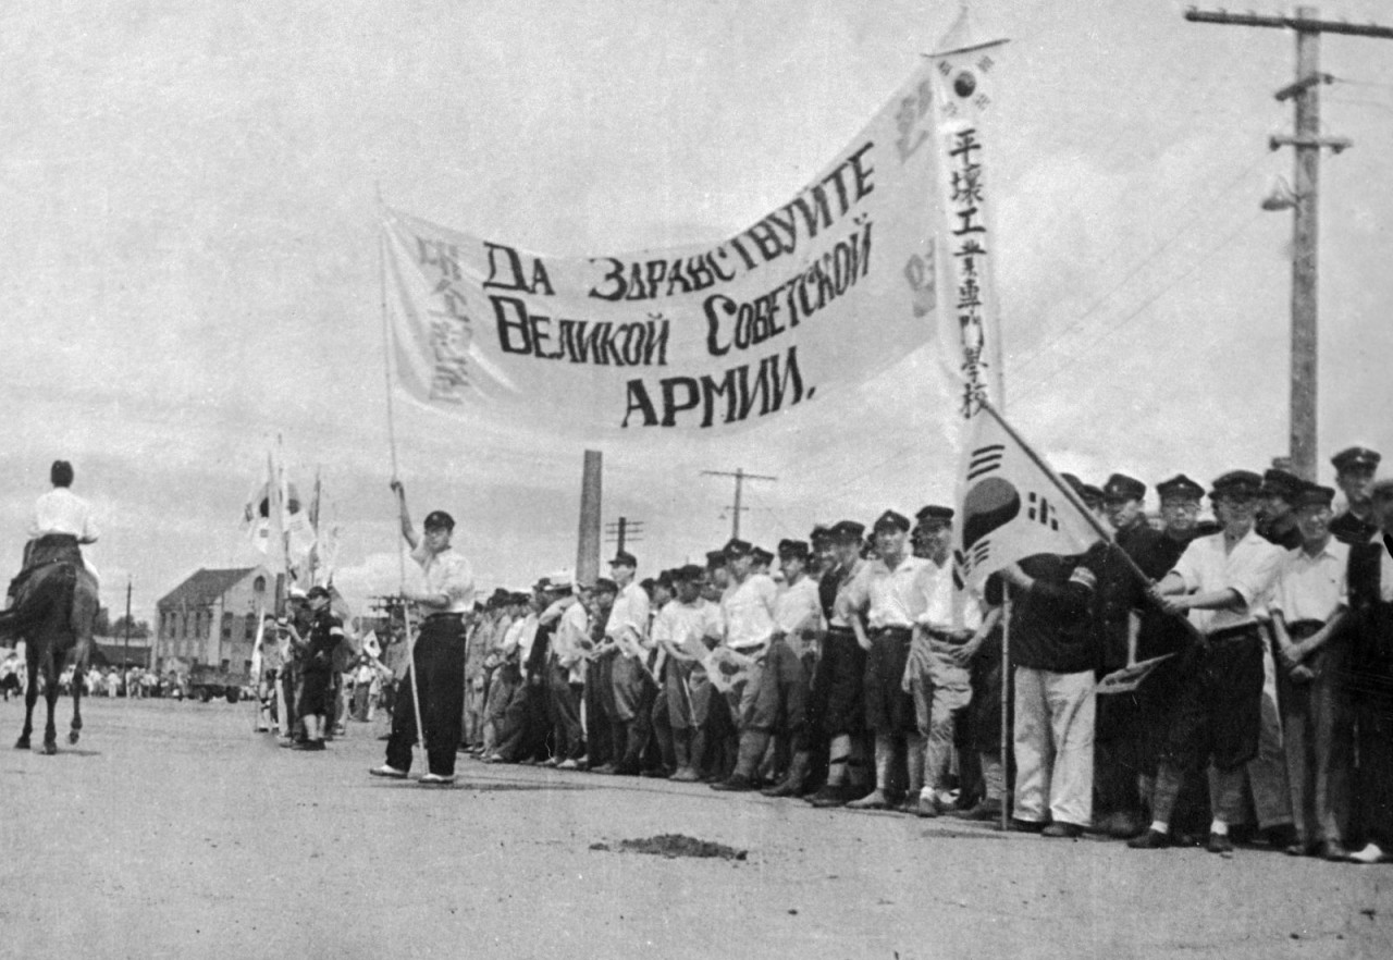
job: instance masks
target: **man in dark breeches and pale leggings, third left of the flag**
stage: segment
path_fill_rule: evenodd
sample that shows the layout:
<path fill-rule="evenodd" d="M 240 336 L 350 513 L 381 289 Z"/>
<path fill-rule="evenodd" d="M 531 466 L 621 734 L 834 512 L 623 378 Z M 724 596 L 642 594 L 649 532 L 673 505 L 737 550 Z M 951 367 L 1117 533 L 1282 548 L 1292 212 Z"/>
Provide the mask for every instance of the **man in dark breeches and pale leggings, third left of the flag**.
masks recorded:
<path fill-rule="evenodd" d="M 861 574 L 861 538 L 865 527 L 843 520 L 829 531 L 827 559 L 818 581 L 818 603 L 827 623 L 818 653 L 808 712 L 826 738 L 826 782 L 808 798 L 814 807 L 840 807 L 865 793 L 862 731 L 865 730 L 865 651 L 857 642 L 850 614 L 848 591 Z"/>

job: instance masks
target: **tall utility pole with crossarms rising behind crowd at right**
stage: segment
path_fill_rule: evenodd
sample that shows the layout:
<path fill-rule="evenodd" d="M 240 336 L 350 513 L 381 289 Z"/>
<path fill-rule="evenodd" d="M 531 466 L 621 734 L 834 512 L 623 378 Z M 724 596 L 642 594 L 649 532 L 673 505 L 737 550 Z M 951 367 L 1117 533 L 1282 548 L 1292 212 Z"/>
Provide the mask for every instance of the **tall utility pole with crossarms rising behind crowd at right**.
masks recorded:
<path fill-rule="evenodd" d="M 1192 24 L 1226 26 L 1275 26 L 1297 35 L 1295 81 L 1276 92 L 1276 99 L 1295 100 L 1294 135 L 1269 141 L 1295 149 L 1295 202 L 1291 226 L 1291 467 L 1298 477 L 1314 481 L 1316 464 L 1316 266 L 1321 148 L 1336 153 L 1353 146 L 1344 137 L 1321 137 L 1321 84 L 1334 78 L 1321 72 L 1321 33 L 1393 39 L 1393 28 L 1319 20 L 1315 7 L 1297 7 L 1295 15 L 1231 14 L 1191 7 Z"/>

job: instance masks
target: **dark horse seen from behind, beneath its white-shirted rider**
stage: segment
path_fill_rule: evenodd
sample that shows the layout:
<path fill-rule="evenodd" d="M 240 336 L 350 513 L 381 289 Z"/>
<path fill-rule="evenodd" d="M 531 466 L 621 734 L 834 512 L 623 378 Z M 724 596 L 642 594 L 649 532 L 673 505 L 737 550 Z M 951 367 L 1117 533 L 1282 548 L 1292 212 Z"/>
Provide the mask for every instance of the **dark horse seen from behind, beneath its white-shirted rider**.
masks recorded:
<path fill-rule="evenodd" d="M 47 538 L 45 538 L 47 539 Z M 43 545 L 43 541 L 38 541 Z M 43 550 L 26 550 L 25 570 L 10 584 L 13 603 L 0 610 L 0 635 L 25 641 L 25 665 L 29 679 L 24 691 L 24 730 L 15 750 L 29 750 L 33 733 L 33 705 L 39 699 L 39 679 L 43 679 L 43 698 L 49 705 L 49 722 L 43 729 L 43 752 L 59 752 L 59 734 L 53 725 L 53 709 L 59 702 L 59 674 L 67 663 L 74 665 L 72 725 L 68 743 L 75 744 L 82 730 L 82 680 L 92 652 L 92 624 L 98 612 L 98 582 L 82 563 L 81 555 L 59 550 L 43 556 Z"/>

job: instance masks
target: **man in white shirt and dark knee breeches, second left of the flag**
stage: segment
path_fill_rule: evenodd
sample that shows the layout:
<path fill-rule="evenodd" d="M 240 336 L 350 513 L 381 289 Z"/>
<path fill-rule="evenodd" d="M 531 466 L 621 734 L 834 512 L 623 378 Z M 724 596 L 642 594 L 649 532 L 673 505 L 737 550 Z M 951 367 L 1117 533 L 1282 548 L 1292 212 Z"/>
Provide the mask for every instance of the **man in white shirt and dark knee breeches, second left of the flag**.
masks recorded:
<path fill-rule="evenodd" d="M 914 699 L 904 690 L 914 624 L 925 609 L 921 582 L 928 560 L 910 553 L 910 518 L 882 513 L 873 527 L 876 559 L 851 584 L 839 610 L 866 651 L 866 726 L 875 734 L 875 790 L 847 804 L 853 810 L 885 810 L 903 784 L 907 740 L 917 734 Z M 839 601 L 840 602 L 840 601 Z"/>

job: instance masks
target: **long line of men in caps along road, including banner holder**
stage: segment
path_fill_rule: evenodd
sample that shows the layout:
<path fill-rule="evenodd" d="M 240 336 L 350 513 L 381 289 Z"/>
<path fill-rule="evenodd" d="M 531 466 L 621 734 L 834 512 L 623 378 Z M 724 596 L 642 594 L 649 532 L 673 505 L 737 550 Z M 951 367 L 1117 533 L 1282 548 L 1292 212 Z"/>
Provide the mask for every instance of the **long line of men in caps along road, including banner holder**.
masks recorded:
<path fill-rule="evenodd" d="M 1112 541 L 1025 557 L 982 595 L 954 577 L 953 510 L 926 506 L 775 552 L 731 539 L 642 580 L 621 550 L 593 584 L 563 571 L 475 602 L 453 518 L 417 535 L 394 485 L 425 573 L 407 599 L 426 616 L 371 772 L 405 779 L 419 723 L 423 784 L 453 782 L 464 751 L 816 807 L 995 822 L 1006 805 L 1011 829 L 1138 850 L 1383 861 L 1393 479 L 1378 463 L 1333 458 L 1339 516 L 1334 489 L 1276 468 L 1160 482 L 1156 518 L 1138 479 L 1066 475 Z M 1100 692 L 1100 677 L 1131 683 Z"/>

